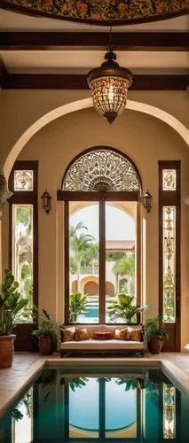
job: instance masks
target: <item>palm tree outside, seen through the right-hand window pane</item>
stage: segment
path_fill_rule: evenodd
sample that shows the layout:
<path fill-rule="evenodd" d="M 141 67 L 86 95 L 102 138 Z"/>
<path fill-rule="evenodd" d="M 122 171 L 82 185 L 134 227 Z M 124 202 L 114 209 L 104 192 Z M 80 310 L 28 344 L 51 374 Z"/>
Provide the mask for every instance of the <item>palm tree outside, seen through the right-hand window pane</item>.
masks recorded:
<path fill-rule="evenodd" d="M 113 272 L 116 276 L 116 291 L 119 291 L 119 276 L 127 276 L 128 283 L 131 286 L 131 280 L 135 275 L 135 257 L 130 255 L 130 257 L 125 256 L 121 260 L 117 260 L 114 263 Z M 131 293 L 131 287 L 129 287 L 129 294 Z"/>

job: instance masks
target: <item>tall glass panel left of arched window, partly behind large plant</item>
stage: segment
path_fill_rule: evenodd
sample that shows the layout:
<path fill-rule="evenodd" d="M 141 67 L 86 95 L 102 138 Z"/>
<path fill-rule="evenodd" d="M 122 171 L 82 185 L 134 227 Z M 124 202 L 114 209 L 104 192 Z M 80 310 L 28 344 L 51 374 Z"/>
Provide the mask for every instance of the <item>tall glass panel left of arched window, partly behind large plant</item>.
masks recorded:
<path fill-rule="evenodd" d="M 33 303 L 33 205 L 12 205 L 12 273 L 20 293 Z M 22 323 L 21 315 L 18 323 Z"/>

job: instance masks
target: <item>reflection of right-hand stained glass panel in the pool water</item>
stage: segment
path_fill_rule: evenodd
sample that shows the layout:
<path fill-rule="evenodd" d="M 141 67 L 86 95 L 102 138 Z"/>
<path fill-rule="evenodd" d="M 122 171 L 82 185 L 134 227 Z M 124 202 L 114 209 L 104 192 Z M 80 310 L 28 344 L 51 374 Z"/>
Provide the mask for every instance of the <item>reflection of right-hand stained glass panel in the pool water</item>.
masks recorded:
<path fill-rule="evenodd" d="M 176 388 L 163 383 L 163 439 L 176 439 Z"/>

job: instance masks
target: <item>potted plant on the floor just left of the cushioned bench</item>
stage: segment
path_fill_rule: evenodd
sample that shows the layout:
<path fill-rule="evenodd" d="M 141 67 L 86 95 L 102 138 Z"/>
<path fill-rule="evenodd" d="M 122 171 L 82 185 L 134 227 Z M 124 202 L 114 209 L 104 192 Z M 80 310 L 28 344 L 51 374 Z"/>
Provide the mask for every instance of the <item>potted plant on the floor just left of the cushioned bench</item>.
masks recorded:
<path fill-rule="evenodd" d="M 60 323 L 55 323 L 45 309 L 42 313 L 37 307 L 33 308 L 33 317 L 38 323 L 38 329 L 32 332 L 38 337 L 38 346 L 41 355 L 51 355 L 57 350 L 60 338 Z"/>

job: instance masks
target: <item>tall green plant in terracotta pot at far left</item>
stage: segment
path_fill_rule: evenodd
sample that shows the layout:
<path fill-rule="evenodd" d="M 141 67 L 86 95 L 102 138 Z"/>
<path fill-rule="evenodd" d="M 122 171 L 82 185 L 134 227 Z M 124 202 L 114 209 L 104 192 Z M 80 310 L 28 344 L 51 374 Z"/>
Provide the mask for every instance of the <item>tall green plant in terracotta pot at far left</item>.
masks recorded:
<path fill-rule="evenodd" d="M 19 283 L 14 280 L 9 269 L 4 270 L 4 284 L 0 292 L 0 368 L 10 368 L 13 361 L 14 338 L 13 326 L 19 320 L 20 311 L 22 316 L 28 316 L 25 308 L 28 299 L 22 299 Z"/>

